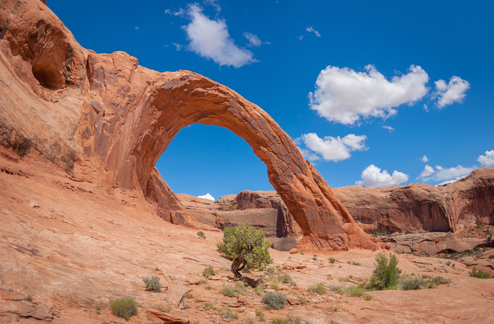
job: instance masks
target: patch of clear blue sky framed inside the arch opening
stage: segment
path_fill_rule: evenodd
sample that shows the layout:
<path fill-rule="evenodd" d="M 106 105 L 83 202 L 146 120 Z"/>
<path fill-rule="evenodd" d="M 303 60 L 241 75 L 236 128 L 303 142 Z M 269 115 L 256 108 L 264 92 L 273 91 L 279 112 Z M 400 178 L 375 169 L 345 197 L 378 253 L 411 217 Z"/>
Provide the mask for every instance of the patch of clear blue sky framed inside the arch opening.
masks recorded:
<path fill-rule="evenodd" d="M 267 167 L 247 142 L 213 125 L 182 128 L 156 162 L 175 194 L 211 194 L 215 199 L 243 190 L 274 190 Z"/>

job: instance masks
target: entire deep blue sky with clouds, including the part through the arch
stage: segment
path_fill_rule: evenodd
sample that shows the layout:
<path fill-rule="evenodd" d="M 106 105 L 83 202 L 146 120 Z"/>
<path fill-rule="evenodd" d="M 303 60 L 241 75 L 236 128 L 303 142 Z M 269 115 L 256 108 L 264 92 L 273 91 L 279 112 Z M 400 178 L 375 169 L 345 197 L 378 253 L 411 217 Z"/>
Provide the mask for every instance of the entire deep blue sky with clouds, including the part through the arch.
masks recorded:
<path fill-rule="evenodd" d="M 436 185 L 494 166 L 492 1 L 48 6 L 86 48 L 123 50 L 144 67 L 191 70 L 239 92 L 332 187 Z M 183 128 L 157 167 L 175 193 L 272 190 L 266 166 L 221 127 Z"/>

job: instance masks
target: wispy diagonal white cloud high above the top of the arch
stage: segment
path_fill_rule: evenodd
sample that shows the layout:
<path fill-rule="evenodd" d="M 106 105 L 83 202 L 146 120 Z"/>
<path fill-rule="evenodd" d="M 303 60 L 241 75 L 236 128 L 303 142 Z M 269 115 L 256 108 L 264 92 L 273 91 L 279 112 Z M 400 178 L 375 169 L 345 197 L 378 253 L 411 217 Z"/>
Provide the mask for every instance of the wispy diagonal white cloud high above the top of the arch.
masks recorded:
<path fill-rule="evenodd" d="M 240 68 L 257 62 L 251 51 L 235 44 L 222 19 L 209 19 L 197 3 L 189 4 L 187 15 L 190 23 L 182 26 L 190 41 L 187 49 L 202 57 L 212 59 L 220 66 Z"/>

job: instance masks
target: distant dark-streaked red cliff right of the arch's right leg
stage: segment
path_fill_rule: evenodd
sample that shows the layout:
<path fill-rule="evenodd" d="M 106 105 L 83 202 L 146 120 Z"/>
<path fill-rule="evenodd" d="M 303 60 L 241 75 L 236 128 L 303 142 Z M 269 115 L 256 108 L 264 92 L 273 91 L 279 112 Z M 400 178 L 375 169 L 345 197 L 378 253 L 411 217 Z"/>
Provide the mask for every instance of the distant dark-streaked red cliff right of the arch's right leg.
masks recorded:
<path fill-rule="evenodd" d="M 367 232 L 456 232 L 477 220 L 494 224 L 494 168 L 476 169 L 446 186 L 333 188 L 355 221 Z"/>

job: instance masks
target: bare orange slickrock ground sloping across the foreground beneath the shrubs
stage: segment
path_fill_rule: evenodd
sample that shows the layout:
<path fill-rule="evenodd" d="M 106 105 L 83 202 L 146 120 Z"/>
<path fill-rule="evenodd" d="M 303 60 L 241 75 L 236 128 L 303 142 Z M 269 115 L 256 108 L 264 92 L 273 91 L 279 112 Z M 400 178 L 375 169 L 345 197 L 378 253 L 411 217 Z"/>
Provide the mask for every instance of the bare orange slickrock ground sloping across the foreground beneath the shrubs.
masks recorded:
<path fill-rule="evenodd" d="M 164 319 L 175 319 L 189 324 L 245 324 L 251 312 L 262 308 L 255 293 L 246 293 L 243 302 L 218 293 L 223 284 L 235 284 L 228 271 L 231 262 L 215 250 L 222 237 L 218 230 L 204 229 L 203 240 L 196 235 L 197 229 L 165 222 L 138 197 L 124 191 L 110 195 L 99 184 L 75 181 L 41 162 L 0 160 L 0 169 L 0 323 L 163 324 Z M 289 304 L 279 311 L 264 310 L 266 323 L 288 315 L 314 324 L 489 323 L 494 316 L 494 280 L 468 277 L 470 269 L 458 261 L 448 264 L 445 259 L 402 254 L 399 268 L 404 272 L 441 275 L 451 284 L 366 292 L 372 296 L 366 301 L 365 295 L 335 291 L 315 295 L 306 289 L 314 283 L 328 288 L 358 285 L 371 276 L 376 252 L 333 252 L 339 261 L 335 263 L 329 263 L 329 255 L 323 253 L 317 253 L 317 261 L 312 253 L 274 249 L 270 253 L 273 266 L 291 276 L 298 290 L 280 286 Z M 474 260 L 466 260 L 470 261 Z M 211 280 L 201 276 L 208 264 L 218 271 Z M 152 275 L 165 287 L 161 293 L 145 290 L 142 278 Z M 262 275 L 253 272 L 251 276 Z M 348 279 L 349 275 L 353 278 Z M 211 289 L 206 290 L 207 286 Z M 185 298 L 187 292 L 192 298 Z M 28 295 L 32 301 L 23 300 Z M 109 299 L 125 295 L 142 306 L 129 321 L 116 317 L 106 306 Z M 301 297 L 307 298 L 305 305 Z M 100 314 L 96 302 L 101 302 Z M 206 311 L 206 302 L 229 306 L 239 319 L 228 322 Z M 190 307 L 183 309 L 185 303 Z M 168 313 L 159 312 L 168 304 Z M 253 319 L 258 320 L 255 315 Z"/>

